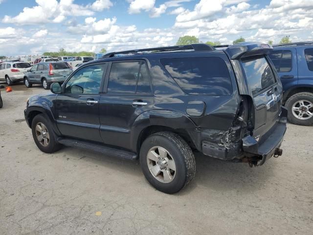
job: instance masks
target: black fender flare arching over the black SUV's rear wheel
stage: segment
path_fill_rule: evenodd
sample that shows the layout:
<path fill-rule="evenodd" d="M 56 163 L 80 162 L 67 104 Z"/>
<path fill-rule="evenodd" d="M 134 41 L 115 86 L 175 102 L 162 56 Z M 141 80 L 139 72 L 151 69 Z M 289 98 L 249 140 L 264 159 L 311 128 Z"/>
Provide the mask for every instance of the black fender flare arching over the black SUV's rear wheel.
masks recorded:
<path fill-rule="evenodd" d="M 140 134 L 149 126 L 163 126 L 171 129 L 194 130 L 196 124 L 186 115 L 172 110 L 150 110 L 140 114 L 134 121 L 131 129 L 131 147 L 137 151 L 137 142 Z"/>

